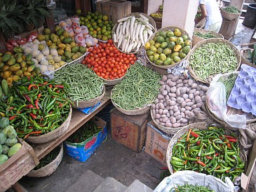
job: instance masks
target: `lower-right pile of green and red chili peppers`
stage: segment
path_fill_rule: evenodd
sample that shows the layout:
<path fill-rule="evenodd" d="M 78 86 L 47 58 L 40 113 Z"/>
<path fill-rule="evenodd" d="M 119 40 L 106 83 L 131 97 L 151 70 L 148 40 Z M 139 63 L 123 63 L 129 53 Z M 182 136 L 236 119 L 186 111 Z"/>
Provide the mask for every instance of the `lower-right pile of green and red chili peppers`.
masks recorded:
<path fill-rule="evenodd" d="M 187 131 L 173 146 L 171 165 L 174 171 L 192 170 L 234 181 L 245 169 L 239 157 L 236 135 L 225 134 L 223 128 Z"/>

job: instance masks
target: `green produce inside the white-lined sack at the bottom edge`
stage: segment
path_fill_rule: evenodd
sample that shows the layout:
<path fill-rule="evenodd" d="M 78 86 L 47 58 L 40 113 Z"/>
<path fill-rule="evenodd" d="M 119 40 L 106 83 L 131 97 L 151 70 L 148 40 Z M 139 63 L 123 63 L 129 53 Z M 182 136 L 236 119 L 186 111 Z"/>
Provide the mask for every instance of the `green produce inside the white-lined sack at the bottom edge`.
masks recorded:
<path fill-rule="evenodd" d="M 170 192 L 214 192 L 215 190 L 210 190 L 208 187 L 199 186 L 197 184 L 191 185 L 186 183 L 184 185 L 178 185 L 170 189 Z"/>

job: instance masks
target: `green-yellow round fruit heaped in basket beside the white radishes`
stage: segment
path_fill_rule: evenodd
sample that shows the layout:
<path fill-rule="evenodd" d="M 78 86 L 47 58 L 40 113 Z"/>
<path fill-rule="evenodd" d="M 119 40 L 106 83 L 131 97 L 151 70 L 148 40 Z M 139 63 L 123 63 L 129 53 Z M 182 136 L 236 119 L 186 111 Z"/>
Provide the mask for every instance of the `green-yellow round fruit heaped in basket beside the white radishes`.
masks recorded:
<path fill-rule="evenodd" d="M 191 41 L 179 29 L 158 31 L 153 39 L 146 42 L 145 49 L 149 61 L 155 65 L 172 65 L 186 57 Z"/>

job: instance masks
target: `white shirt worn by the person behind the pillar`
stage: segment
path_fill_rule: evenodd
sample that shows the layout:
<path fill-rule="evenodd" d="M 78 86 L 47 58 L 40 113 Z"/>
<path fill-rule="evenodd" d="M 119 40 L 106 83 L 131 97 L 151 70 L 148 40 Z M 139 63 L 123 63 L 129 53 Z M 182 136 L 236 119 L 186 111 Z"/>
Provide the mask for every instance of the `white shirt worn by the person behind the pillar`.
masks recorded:
<path fill-rule="evenodd" d="M 199 0 L 199 4 L 203 4 L 206 7 L 206 26 L 222 22 L 221 11 L 219 11 L 219 6 L 216 0 Z"/>

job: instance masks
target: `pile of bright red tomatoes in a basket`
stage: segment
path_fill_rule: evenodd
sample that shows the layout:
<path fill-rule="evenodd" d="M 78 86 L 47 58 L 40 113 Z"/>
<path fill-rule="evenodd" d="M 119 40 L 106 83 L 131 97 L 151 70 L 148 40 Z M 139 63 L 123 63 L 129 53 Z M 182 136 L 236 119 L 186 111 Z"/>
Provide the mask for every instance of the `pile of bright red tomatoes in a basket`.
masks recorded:
<path fill-rule="evenodd" d="M 89 52 L 82 64 L 93 69 L 99 77 L 108 80 L 123 77 L 130 65 L 137 60 L 134 54 L 121 53 L 114 46 L 112 39 L 107 43 L 99 43 L 98 47 L 93 46 Z"/>

